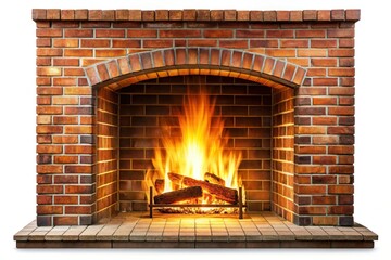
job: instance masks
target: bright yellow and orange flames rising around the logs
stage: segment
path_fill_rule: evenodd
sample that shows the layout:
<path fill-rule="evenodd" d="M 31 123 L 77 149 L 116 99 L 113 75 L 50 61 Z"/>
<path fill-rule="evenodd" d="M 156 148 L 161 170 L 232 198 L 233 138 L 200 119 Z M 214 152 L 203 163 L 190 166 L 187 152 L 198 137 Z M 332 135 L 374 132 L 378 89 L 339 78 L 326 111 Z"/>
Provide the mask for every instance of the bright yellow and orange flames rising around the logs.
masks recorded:
<path fill-rule="evenodd" d="M 185 186 L 173 183 L 169 172 L 179 173 L 195 180 L 205 180 L 205 173 L 215 180 L 222 179 L 224 185 L 238 188 L 241 180 L 238 167 L 241 153 L 229 151 L 228 135 L 224 131 L 224 120 L 215 115 L 215 101 L 206 93 L 188 94 L 184 110 L 178 113 L 179 131 L 175 136 L 169 134 L 169 127 L 163 127 L 161 148 L 155 148 L 152 159 L 154 171 L 147 173 L 147 183 L 154 185 L 156 179 L 164 179 L 164 193 Z M 157 172 L 157 176 L 153 173 Z M 212 178 L 212 179 L 213 179 Z M 210 181 L 210 180 L 209 180 Z M 202 202 L 218 203 L 210 194 L 203 194 Z"/>

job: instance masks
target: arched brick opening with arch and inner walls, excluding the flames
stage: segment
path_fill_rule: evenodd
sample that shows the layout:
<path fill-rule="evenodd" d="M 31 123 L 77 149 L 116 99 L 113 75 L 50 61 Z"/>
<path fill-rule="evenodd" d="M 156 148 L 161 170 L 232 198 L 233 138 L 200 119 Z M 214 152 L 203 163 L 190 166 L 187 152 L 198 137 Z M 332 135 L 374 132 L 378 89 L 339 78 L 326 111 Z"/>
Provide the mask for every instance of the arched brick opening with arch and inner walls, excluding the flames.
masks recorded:
<path fill-rule="evenodd" d="M 86 74 L 97 96 L 98 220 L 147 210 L 143 180 L 162 121 L 175 132 L 176 110 L 201 89 L 216 100 L 229 147 L 243 154 L 238 174 L 248 210 L 293 220 L 293 99 L 304 69 L 254 53 L 199 48 L 131 54 Z"/>

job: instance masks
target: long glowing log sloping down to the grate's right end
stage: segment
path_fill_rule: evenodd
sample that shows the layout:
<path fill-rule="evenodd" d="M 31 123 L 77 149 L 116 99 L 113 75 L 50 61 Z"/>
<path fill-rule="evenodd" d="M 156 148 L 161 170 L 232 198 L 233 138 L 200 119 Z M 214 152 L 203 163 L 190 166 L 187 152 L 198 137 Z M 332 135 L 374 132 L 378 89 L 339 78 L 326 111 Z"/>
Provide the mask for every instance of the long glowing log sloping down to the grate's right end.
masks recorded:
<path fill-rule="evenodd" d="M 168 178 L 174 183 L 182 184 L 185 186 L 200 186 L 203 191 L 214 195 L 217 199 L 224 200 L 229 204 L 238 204 L 237 190 L 209 183 L 205 181 L 199 181 L 190 177 L 185 177 L 173 172 L 168 173 Z"/>

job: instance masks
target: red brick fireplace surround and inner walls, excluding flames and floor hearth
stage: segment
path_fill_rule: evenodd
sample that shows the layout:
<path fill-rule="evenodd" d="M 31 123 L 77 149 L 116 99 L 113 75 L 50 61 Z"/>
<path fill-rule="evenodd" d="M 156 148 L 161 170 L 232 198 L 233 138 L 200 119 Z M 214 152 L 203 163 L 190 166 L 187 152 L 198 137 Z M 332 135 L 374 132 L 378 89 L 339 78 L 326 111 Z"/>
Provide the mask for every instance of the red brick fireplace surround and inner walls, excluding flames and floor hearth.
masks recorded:
<path fill-rule="evenodd" d="M 247 210 L 352 226 L 360 10 L 34 10 L 37 225 L 148 209 L 161 127 L 206 90 Z"/>

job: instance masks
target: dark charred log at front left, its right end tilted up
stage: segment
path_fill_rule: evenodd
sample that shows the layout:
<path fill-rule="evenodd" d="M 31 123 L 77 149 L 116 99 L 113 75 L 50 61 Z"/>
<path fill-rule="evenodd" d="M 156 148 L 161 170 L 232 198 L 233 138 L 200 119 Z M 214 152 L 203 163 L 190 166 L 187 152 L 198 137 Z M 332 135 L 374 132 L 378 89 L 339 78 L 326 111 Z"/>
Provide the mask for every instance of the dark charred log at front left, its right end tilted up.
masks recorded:
<path fill-rule="evenodd" d="M 153 200 L 154 204 L 174 204 L 199 197 L 202 197 L 202 188 L 200 186 L 190 186 L 174 192 L 163 193 L 155 196 Z"/>

